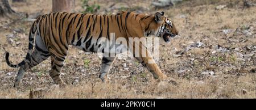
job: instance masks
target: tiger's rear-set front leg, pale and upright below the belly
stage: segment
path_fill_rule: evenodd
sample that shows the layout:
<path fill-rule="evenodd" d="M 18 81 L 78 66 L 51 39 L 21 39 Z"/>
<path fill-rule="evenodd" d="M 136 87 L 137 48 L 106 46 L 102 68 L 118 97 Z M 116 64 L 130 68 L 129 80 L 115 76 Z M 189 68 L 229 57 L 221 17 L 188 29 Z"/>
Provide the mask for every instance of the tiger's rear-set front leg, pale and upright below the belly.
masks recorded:
<path fill-rule="evenodd" d="M 101 62 L 100 78 L 102 82 L 106 81 L 107 75 L 112 67 L 115 57 L 103 57 Z"/>

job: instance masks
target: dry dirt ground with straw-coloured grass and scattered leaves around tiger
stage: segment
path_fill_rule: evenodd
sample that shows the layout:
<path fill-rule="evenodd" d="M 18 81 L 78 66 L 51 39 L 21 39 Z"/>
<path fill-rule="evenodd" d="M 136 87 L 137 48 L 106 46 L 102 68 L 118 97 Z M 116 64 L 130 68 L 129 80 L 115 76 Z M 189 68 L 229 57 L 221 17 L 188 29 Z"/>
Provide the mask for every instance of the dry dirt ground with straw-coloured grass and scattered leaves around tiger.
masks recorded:
<path fill-rule="evenodd" d="M 98 14 L 113 14 L 126 7 L 147 14 L 165 11 L 175 23 L 179 36 L 171 44 L 161 43 L 157 60 L 174 81 L 156 81 L 133 58 L 119 58 L 109 81 L 102 83 L 98 79 L 101 58 L 72 48 L 61 76 L 67 86 L 53 83 L 47 60 L 29 70 L 19 88 L 13 88 L 18 69 L 7 66 L 4 55 L 10 52 L 14 64 L 23 60 L 32 22 L 1 19 L 0 98 L 30 98 L 32 94 L 34 98 L 256 98 L 256 6 L 236 0 L 195 0 L 155 10 L 152 1 L 115 2 L 90 4 L 101 6 Z M 28 18 L 51 11 L 50 0 L 10 4 Z M 78 0 L 75 11 L 82 11 Z"/>

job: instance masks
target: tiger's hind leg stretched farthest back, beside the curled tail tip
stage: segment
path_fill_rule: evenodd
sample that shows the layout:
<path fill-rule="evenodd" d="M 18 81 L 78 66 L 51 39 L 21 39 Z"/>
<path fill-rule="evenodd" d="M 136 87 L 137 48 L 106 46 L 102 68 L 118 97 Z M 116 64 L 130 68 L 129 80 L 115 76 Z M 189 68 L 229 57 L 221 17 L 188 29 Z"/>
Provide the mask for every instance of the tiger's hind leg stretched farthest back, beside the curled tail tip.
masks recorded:
<path fill-rule="evenodd" d="M 49 57 L 49 52 L 44 46 L 42 40 L 39 36 L 36 37 L 36 45 L 35 49 L 32 52 L 32 55 L 27 54 L 26 60 L 24 60 L 23 65 L 20 66 L 18 75 L 15 79 L 14 87 L 18 87 L 19 83 L 22 81 L 22 78 L 24 77 L 24 73 L 27 70 L 30 70 L 32 67 L 40 64 L 44 60 L 46 60 Z"/>

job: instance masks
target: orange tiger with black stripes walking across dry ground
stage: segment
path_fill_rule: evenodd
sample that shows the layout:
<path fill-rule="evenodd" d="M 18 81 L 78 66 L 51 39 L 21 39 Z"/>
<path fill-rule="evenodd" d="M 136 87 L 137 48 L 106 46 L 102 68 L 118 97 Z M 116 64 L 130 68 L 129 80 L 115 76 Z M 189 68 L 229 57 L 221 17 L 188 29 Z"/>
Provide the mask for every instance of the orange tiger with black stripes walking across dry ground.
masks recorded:
<path fill-rule="evenodd" d="M 112 15 L 83 14 L 71 12 L 51 12 L 39 16 L 32 23 L 28 36 L 28 52 L 23 61 L 19 64 L 11 64 L 9 52 L 6 52 L 6 63 L 10 67 L 19 67 L 18 75 L 15 78 L 14 87 L 18 87 L 24 77 L 24 73 L 32 67 L 40 64 L 51 57 L 51 70 L 49 75 L 53 82 L 58 85 L 65 85 L 61 79 L 61 70 L 69 46 L 75 46 L 84 52 L 98 53 L 98 48 L 105 42 L 99 43 L 98 39 L 104 37 L 110 39 L 110 33 L 115 37 L 129 39 L 132 37 L 148 37 L 150 35 L 162 37 L 166 43 L 170 43 L 172 37 L 178 35 L 175 24 L 164 16 L 164 12 L 155 14 L 138 14 L 136 12 L 122 11 Z M 127 41 L 128 43 L 129 41 Z M 133 46 L 133 50 L 141 49 L 142 46 Z M 100 53 L 104 52 L 104 49 Z M 140 64 L 153 74 L 155 79 L 165 79 L 159 66 L 155 63 L 150 52 L 146 50 L 146 57 L 135 57 Z M 103 56 L 101 61 L 101 81 L 105 82 L 116 56 Z M 149 63 L 152 60 L 153 63 Z"/>

